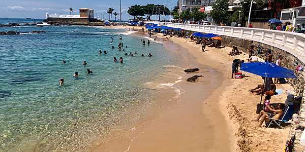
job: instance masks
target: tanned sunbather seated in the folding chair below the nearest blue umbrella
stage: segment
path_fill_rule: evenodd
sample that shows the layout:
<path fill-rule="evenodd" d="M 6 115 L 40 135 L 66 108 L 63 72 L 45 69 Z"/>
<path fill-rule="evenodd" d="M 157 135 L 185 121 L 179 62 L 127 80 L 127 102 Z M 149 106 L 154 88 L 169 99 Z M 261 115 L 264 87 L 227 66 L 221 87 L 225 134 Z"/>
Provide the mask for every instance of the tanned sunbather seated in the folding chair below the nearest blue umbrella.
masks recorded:
<path fill-rule="evenodd" d="M 267 106 L 268 106 L 268 105 L 267 105 Z M 272 106 L 268 106 L 268 108 L 269 108 L 270 111 L 276 113 L 276 115 L 273 116 L 272 118 L 273 118 L 273 119 L 278 119 L 278 120 L 279 120 L 279 119 L 283 116 L 283 113 L 284 113 L 284 112 L 283 112 L 283 109 L 284 109 L 284 107 L 285 107 L 285 104 L 283 104 L 283 103 L 279 103 L 279 104 L 278 104 L 278 108 L 279 108 L 279 109 L 277 109 L 277 110 L 276 110 L 274 107 L 272 107 Z M 259 122 L 259 124 L 258 124 L 257 127 L 262 127 L 262 124 L 264 123 L 264 121 L 265 121 L 265 122 L 270 122 L 270 121 L 271 121 L 268 117 L 269 117 L 268 114 L 267 114 L 264 110 L 261 110 L 261 111 L 259 112 L 259 115 L 258 115 L 257 119 L 255 119 L 255 120 L 253 120 L 253 121 Z M 260 118 L 261 118 L 261 120 L 258 121 Z"/>

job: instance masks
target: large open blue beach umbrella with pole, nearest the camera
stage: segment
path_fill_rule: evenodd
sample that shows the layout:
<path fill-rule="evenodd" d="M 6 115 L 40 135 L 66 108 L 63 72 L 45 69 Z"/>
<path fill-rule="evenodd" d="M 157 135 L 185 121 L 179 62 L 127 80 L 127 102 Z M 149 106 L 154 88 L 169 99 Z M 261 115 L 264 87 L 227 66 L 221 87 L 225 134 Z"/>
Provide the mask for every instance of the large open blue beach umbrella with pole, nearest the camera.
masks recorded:
<path fill-rule="evenodd" d="M 271 62 L 241 63 L 240 70 L 265 77 L 264 85 L 266 78 L 296 78 L 292 70 Z M 263 94 L 262 92 L 260 104 Z"/>

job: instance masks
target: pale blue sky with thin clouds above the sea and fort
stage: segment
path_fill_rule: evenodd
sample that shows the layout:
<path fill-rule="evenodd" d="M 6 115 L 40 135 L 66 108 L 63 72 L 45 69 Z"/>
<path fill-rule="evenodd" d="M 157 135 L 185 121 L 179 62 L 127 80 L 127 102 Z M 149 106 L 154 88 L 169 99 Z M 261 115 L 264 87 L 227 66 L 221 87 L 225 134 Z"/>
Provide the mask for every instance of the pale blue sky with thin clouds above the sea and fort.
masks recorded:
<path fill-rule="evenodd" d="M 127 13 L 128 7 L 138 4 L 164 4 L 170 9 L 171 6 L 177 6 L 177 0 L 121 0 L 122 9 L 122 20 L 128 20 L 133 18 Z M 172 5 L 173 2 L 173 5 Z M 46 19 L 46 13 L 48 14 L 70 14 L 69 8 L 73 8 L 74 15 L 79 15 L 80 8 L 93 9 L 95 11 L 95 17 L 109 19 L 109 14 L 107 13 L 108 8 L 114 8 L 114 12 L 119 14 L 119 0 L 0 0 L 0 18 L 39 18 Z M 119 15 L 117 16 L 117 19 Z M 155 16 L 152 18 L 155 19 Z M 162 17 L 161 17 L 162 19 Z M 164 19 L 169 19 L 169 16 L 164 17 Z M 114 15 L 112 15 L 112 20 L 114 20 Z"/>

